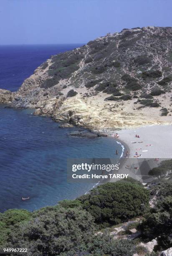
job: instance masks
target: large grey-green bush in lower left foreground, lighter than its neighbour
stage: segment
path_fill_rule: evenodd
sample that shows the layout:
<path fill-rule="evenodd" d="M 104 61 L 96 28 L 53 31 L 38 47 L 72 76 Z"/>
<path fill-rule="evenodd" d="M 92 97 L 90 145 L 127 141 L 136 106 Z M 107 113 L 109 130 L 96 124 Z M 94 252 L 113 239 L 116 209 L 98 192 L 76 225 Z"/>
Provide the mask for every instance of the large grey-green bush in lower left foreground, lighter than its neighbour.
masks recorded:
<path fill-rule="evenodd" d="M 9 235 L 8 246 L 28 248 L 33 255 L 60 255 L 94 234 L 94 219 L 81 207 L 48 207 L 36 218 L 18 225 Z"/>

